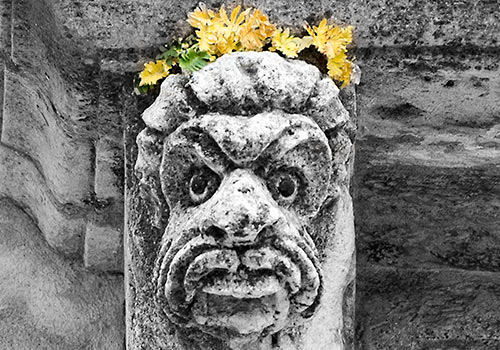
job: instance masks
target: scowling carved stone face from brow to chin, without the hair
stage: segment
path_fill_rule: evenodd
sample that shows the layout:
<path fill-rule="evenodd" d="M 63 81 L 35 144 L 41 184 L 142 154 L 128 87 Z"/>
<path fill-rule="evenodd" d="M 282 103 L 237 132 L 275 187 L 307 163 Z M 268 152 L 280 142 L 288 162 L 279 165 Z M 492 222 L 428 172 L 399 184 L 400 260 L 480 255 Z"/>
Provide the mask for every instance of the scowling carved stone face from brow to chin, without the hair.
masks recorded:
<path fill-rule="evenodd" d="M 255 340 L 319 302 L 306 225 L 327 193 L 328 140 L 308 117 L 206 114 L 165 141 L 171 208 L 157 286 L 177 323 Z"/>

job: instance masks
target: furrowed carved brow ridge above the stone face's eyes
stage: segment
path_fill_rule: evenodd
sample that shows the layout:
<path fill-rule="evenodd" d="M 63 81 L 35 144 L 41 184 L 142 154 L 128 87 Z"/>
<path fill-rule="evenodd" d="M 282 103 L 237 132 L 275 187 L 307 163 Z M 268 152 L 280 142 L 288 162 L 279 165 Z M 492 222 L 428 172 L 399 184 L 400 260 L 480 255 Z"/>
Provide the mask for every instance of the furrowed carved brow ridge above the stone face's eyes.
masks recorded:
<path fill-rule="evenodd" d="M 261 125 L 257 129 L 247 129 L 246 123 L 249 120 L 238 121 L 232 119 L 234 116 L 230 117 L 234 122 L 230 125 L 234 128 L 221 129 L 219 126 L 227 126 L 225 116 L 217 115 L 217 119 L 212 119 L 213 117 L 215 115 L 206 115 L 206 119 L 192 120 L 181 126 L 168 137 L 167 144 L 171 148 L 193 150 L 199 160 L 219 174 L 237 166 L 249 166 L 264 157 L 279 159 L 305 143 L 320 142 L 328 145 L 323 131 L 305 116 L 270 116 L 282 119 L 275 121 L 276 123 Z M 257 119 L 256 122 L 260 123 L 260 120 Z"/>

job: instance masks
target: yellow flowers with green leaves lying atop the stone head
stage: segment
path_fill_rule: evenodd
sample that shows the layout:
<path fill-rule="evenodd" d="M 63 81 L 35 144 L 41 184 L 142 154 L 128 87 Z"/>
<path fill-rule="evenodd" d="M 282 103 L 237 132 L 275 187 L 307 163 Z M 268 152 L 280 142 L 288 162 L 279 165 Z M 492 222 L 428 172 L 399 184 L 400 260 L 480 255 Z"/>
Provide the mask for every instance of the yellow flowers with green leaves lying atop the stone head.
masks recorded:
<path fill-rule="evenodd" d="M 155 61 L 144 64 L 135 79 L 138 93 L 147 93 L 169 74 L 197 71 L 218 57 L 234 51 L 276 51 L 288 58 L 314 47 L 326 58 L 326 68 L 332 79 L 349 85 L 353 63 L 348 57 L 352 43 L 352 26 L 329 25 L 323 19 L 318 26 L 304 24 L 309 35 L 296 37 L 290 29 L 272 24 L 258 9 L 241 11 L 237 6 L 228 16 L 224 5 L 212 11 L 200 4 L 188 15 L 188 23 L 195 28 L 194 35 L 179 39 L 161 48 Z"/>

